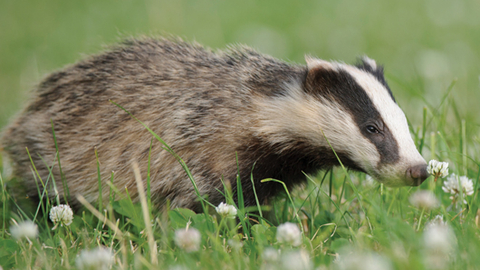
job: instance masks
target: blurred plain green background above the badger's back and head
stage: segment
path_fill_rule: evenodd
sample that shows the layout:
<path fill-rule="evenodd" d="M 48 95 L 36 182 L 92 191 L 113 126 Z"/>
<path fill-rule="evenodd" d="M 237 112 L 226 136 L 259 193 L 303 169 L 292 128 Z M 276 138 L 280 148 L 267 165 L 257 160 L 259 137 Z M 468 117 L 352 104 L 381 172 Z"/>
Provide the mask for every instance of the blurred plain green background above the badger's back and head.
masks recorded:
<path fill-rule="evenodd" d="M 173 34 L 211 48 L 244 43 L 291 62 L 304 54 L 386 76 L 410 120 L 456 80 L 462 118 L 479 123 L 480 1 L 0 1 L 0 127 L 49 72 L 128 36 Z"/>

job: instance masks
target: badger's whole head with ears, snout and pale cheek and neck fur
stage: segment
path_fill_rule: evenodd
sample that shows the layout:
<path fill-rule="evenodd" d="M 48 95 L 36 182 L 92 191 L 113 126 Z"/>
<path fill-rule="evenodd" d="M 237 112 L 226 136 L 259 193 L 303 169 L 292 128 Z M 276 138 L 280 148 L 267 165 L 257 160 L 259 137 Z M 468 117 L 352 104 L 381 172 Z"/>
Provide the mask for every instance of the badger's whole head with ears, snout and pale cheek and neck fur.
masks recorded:
<path fill-rule="evenodd" d="M 301 84 L 288 84 L 287 94 L 270 104 L 272 113 L 282 115 L 273 124 L 282 130 L 271 133 L 272 139 L 280 143 L 288 140 L 280 134 L 290 134 L 317 149 L 332 147 L 349 167 L 388 186 L 420 185 L 428 177 L 427 164 L 383 68 L 367 57 L 357 66 L 306 60 Z"/>

